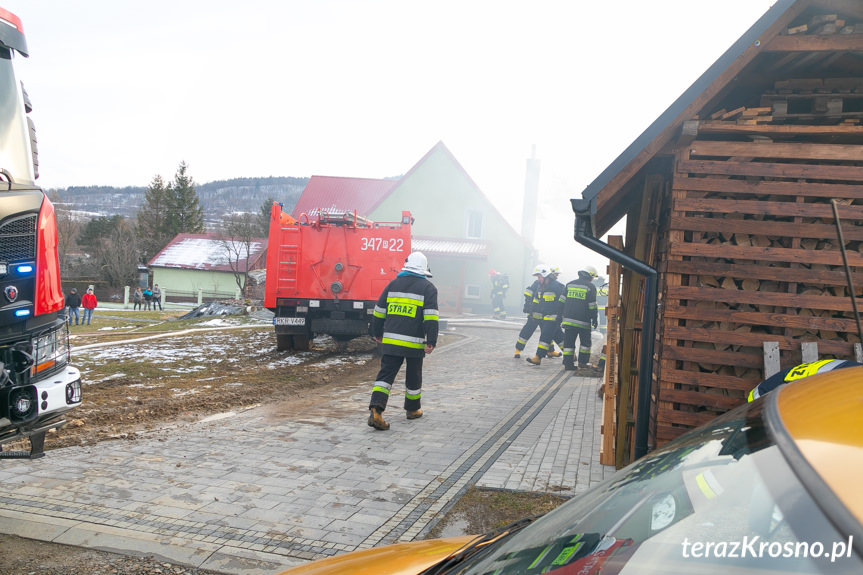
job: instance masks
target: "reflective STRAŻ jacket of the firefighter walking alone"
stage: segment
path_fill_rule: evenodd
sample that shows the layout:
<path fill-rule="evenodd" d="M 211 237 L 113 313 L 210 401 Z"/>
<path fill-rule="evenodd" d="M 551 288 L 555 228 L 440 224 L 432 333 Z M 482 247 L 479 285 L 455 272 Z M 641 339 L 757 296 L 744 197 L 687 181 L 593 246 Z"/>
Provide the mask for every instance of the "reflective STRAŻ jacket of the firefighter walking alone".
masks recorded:
<path fill-rule="evenodd" d="M 375 304 L 372 333 L 382 338 L 384 355 L 423 357 L 437 345 L 437 288 L 425 277 L 402 272 Z"/>

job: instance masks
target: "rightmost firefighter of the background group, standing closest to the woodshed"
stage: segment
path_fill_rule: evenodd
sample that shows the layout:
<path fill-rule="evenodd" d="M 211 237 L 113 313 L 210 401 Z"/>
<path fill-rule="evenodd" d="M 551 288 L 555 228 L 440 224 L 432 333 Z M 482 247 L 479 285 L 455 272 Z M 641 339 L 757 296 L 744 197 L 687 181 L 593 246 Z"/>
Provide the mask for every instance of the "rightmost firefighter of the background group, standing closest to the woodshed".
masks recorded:
<path fill-rule="evenodd" d="M 596 310 L 596 268 L 585 266 L 578 277 L 566 284 L 563 298 L 563 368 L 576 369 L 575 341 L 578 340 L 578 367 L 588 367 L 590 332 L 598 325 Z"/>

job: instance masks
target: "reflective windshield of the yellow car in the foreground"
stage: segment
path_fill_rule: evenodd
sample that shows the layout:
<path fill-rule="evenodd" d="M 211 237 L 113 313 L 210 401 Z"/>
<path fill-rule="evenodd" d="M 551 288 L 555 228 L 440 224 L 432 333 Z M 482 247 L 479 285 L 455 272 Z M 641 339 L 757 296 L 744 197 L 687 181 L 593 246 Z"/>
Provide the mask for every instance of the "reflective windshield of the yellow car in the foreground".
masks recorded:
<path fill-rule="evenodd" d="M 768 436 L 762 404 L 637 461 L 450 573 L 863 573 L 851 535 Z"/>

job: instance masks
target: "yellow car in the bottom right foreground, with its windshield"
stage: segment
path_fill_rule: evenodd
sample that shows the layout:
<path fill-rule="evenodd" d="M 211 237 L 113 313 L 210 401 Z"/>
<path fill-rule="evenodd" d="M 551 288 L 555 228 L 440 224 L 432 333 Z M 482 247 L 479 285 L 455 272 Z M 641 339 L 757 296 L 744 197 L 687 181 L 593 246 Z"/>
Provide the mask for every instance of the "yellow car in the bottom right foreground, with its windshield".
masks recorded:
<path fill-rule="evenodd" d="M 283 575 L 863 573 L 863 367 L 718 417 L 536 520 Z"/>

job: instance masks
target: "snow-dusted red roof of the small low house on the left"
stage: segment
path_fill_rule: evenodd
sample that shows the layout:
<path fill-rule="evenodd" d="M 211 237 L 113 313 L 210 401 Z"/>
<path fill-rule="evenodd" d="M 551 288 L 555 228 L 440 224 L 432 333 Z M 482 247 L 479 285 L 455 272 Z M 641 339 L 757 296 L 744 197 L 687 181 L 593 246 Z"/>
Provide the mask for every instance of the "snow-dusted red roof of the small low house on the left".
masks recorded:
<path fill-rule="evenodd" d="M 267 240 L 252 238 L 249 245 L 249 266 L 253 266 L 267 251 Z M 245 248 L 241 248 L 245 251 Z M 219 234 L 179 234 L 156 254 L 150 267 L 183 268 L 230 272 L 228 255 Z"/>

